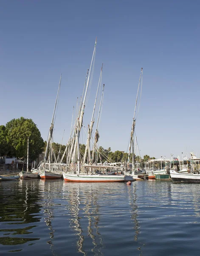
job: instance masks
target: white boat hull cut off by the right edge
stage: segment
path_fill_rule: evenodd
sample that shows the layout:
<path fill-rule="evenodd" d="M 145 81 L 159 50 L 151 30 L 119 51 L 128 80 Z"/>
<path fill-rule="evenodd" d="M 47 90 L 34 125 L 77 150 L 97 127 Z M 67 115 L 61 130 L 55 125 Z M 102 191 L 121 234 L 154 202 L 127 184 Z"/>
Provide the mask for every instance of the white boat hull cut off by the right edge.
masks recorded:
<path fill-rule="evenodd" d="M 200 183 L 200 174 L 180 173 L 176 172 L 175 170 L 170 170 L 170 176 L 173 181 Z"/>

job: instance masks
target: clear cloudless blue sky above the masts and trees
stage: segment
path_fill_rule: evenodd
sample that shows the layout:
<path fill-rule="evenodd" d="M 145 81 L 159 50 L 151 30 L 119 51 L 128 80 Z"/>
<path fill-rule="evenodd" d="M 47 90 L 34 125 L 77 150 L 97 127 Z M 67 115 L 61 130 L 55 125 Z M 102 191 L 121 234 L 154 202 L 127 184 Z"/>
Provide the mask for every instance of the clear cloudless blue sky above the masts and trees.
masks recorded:
<path fill-rule="evenodd" d="M 54 141 L 65 129 L 66 143 L 97 37 L 83 123 L 104 63 L 99 144 L 127 151 L 143 67 L 135 126 L 141 156 L 199 157 L 199 14 L 199 0 L 0 0 L 0 124 L 31 118 L 46 140 L 62 73 Z"/>

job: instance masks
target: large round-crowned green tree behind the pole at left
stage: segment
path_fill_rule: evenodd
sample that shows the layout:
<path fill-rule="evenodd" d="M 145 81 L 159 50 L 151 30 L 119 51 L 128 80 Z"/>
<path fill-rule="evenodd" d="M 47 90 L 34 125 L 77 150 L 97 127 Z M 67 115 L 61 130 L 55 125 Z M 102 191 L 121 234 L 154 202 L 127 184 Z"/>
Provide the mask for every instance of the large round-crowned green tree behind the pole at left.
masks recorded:
<path fill-rule="evenodd" d="M 6 124 L 7 143 L 14 147 L 16 157 L 25 157 L 27 154 L 27 140 L 29 137 L 29 158 L 34 160 L 42 153 L 44 141 L 37 125 L 32 119 L 20 117 L 12 119 Z"/>

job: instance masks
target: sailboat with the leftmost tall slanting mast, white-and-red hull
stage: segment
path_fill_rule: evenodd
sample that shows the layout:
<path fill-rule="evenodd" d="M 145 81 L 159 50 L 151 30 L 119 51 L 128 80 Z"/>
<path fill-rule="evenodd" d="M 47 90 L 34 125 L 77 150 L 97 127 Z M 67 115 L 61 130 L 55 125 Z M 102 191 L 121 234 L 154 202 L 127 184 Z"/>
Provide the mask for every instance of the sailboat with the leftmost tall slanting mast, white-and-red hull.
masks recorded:
<path fill-rule="evenodd" d="M 44 156 L 44 160 L 39 166 L 39 176 L 41 177 L 41 179 L 60 179 L 62 177 L 62 171 L 61 171 L 62 165 L 57 163 L 56 156 L 54 154 L 54 150 L 52 147 L 55 111 L 56 111 L 56 106 L 57 106 L 58 97 L 60 93 L 61 78 L 62 78 L 62 75 L 60 76 L 59 87 L 58 87 L 56 102 L 54 106 L 54 112 L 51 119 L 51 126 L 49 128 L 45 156 Z M 48 161 L 47 161 L 47 155 L 48 155 Z M 53 157 L 54 157 L 54 162 L 53 162 Z"/>

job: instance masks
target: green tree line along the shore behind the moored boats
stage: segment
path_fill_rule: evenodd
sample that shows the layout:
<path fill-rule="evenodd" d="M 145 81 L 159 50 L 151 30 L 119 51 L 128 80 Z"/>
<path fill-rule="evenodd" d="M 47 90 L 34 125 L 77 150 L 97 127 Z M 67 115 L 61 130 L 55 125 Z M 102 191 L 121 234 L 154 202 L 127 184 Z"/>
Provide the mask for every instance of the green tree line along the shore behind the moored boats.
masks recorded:
<path fill-rule="evenodd" d="M 0 156 L 8 155 L 10 157 L 23 158 L 27 156 L 27 140 L 29 137 L 29 159 L 35 160 L 42 151 L 46 149 L 46 141 L 44 142 L 37 125 L 32 119 L 25 119 L 20 117 L 18 119 L 12 119 L 7 122 L 6 125 L 0 125 Z M 59 159 L 65 151 L 65 145 L 59 143 L 53 143 L 52 147 L 54 153 Z M 80 154 L 84 155 L 85 145 L 80 144 Z M 149 159 L 155 159 L 155 157 L 149 157 L 144 155 L 143 158 L 135 156 L 136 162 L 144 163 Z M 97 153 L 98 163 L 115 162 L 125 163 L 128 160 L 128 153 L 124 151 L 112 152 L 111 148 L 99 147 Z M 66 163 L 66 155 L 63 158 L 63 162 Z M 130 155 L 130 163 L 132 163 L 132 154 Z"/>

